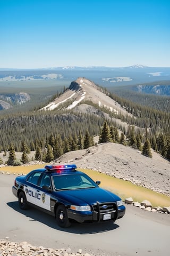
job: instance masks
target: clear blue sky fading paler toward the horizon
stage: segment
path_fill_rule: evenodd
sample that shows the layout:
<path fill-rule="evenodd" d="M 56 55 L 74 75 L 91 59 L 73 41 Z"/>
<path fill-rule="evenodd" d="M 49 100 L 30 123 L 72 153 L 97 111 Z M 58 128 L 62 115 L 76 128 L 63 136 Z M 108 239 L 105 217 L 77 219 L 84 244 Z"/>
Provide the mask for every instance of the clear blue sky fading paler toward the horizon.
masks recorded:
<path fill-rule="evenodd" d="M 170 67 L 170 1 L 0 0 L 0 68 Z"/>

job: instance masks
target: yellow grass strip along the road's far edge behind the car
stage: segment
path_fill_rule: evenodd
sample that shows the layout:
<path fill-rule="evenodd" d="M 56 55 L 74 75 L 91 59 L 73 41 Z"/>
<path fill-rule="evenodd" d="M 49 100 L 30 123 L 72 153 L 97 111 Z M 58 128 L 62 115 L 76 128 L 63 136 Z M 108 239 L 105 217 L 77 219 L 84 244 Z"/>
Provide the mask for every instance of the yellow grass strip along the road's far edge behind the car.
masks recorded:
<path fill-rule="evenodd" d="M 43 168 L 45 164 L 29 165 L 29 166 L 5 166 L 0 169 L 5 173 L 27 174 L 36 169 Z M 150 189 L 132 184 L 129 181 L 120 180 L 104 173 L 99 173 L 93 170 L 79 169 L 88 174 L 93 180 L 100 180 L 100 187 L 106 188 L 120 196 L 123 200 L 127 197 L 132 197 L 133 201 L 142 202 L 149 200 L 153 206 L 170 206 L 170 197 L 160 193 L 156 193 Z"/>

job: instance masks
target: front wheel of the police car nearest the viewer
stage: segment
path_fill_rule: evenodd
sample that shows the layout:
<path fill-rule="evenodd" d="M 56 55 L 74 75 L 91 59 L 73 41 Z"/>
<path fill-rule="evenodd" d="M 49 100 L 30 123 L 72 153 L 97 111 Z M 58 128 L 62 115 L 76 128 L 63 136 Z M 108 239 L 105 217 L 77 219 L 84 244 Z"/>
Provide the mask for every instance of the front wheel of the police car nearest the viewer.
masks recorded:
<path fill-rule="evenodd" d="M 67 216 L 67 211 L 64 205 L 58 205 L 56 210 L 56 221 L 58 226 L 62 228 L 68 228 L 71 226 L 71 222 Z"/>

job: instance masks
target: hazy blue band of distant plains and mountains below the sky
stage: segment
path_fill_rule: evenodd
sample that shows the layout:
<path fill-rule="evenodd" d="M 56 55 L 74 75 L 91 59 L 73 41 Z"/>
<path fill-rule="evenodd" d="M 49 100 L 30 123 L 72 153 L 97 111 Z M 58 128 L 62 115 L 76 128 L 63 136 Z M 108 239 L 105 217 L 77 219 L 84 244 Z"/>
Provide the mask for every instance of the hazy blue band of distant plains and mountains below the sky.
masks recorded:
<path fill-rule="evenodd" d="M 108 89 L 113 86 L 135 85 L 151 83 L 155 81 L 170 81 L 170 67 L 147 67 L 133 65 L 124 68 L 114 67 L 52 67 L 44 69 L 0 69 L 1 82 L 24 82 L 24 81 L 62 81 L 65 86 L 78 77 L 86 77 L 100 86 Z M 10 85 L 10 84 L 8 84 Z M 11 84 L 12 86 L 14 83 Z M 49 83 L 47 84 L 47 86 Z M 23 85 L 25 86 L 25 84 Z"/>

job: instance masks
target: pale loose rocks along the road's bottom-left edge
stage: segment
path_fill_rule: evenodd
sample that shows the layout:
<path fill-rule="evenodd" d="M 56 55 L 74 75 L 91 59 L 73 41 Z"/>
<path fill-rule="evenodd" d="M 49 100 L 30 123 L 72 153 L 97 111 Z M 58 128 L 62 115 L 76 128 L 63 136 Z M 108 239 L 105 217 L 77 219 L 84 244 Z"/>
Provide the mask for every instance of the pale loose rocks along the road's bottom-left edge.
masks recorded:
<path fill-rule="evenodd" d="M 0 240 L 0 256 L 95 256 L 83 253 L 81 249 L 72 253 L 70 248 L 52 249 L 43 246 L 33 246 L 27 242 L 14 243 L 8 237 Z"/>

